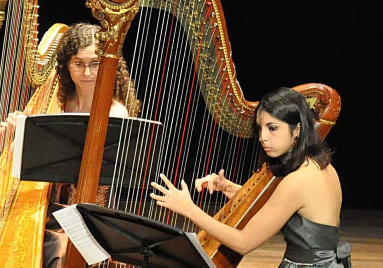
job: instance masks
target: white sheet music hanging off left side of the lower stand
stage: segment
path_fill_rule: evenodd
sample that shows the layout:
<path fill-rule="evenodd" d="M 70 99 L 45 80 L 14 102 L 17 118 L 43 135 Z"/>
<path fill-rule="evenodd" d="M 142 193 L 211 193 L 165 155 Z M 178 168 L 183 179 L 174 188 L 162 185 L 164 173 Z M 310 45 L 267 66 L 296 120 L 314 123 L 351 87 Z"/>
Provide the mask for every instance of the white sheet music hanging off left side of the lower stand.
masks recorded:
<path fill-rule="evenodd" d="M 52 214 L 89 265 L 108 259 L 110 254 L 90 233 L 76 206 L 71 205 Z"/>

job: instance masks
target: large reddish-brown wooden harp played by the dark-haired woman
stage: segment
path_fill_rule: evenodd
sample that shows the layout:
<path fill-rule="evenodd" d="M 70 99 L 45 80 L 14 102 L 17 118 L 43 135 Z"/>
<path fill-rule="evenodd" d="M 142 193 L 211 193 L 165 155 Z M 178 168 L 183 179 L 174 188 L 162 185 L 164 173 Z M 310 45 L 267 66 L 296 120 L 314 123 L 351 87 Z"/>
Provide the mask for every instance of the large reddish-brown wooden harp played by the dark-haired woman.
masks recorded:
<path fill-rule="evenodd" d="M 96 87 L 96 91 L 99 92 L 97 94 L 95 93 L 97 96 L 103 96 L 102 98 L 108 96 L 107 93 L 104 92 L 104 90 L 106 90 L 106 86 L 104 86 L 106 81 L 103 79 L 104 75 L 100 75 L 100 71 L 103 71 L 104 68 L 102 66 L 104 64 L 106 66 L 107 63 L 111 63 L 113 59 L 118 58 L 118 54 L 121 53 L 120 47 L 122 46 L 126 31 L 131 25 L 131 21 L 129 20 L 133 20 L 136 13 L 139 11 L 139 6 L 142 9 L 145 8 L 146 12 L 141 11 L 140 16 L 137 17 L 148 20 L 149 18 L 152 18 L 152 16 L 155 18 L 153 21 L 140 20 L 140 24 L 156 24 L 162 19 L 163 21 L 166 21 L 165 24 L 157 24 L 156 28 L 162 29 L 163 27 L 169 30 L 169 32 L 162 33 L 158 31 L 154 33 L 155 36 L 164 36 L 163 42 L 158 43 L 162 44 L 162 47 L 160 45 L 161 48 L 157 51 L 153 49 L 154 46 L 150 46 L 149 49 L 152 52 L 152 55 L 160 55 L 160 57 L 163 56 L 163 58 L 160 58 L 158 61 L 151 61 L 150 64 L 148 64 L 149 67 L 144 71 L 144 73 L 147 73 L 147 75 L 144 75 L 147 83 L 143 87 L 146 88 L 146 90 L 149 88 L 148 91 L 151 91 L 152 88 L 156 88 L 158 91 L 152 93 L 152 96 L 148 97 L 148 99 L 152 98 L 149 101 L 146 100 L 146 97 L 141 98 L 144 102 L 142 108 L 143 114 L 141 116 L 148 116 L 148 119 L 152 120 L 164 120 L 165 125 L 170 125 L 165 132 L 168 131 L 168 133 L 171 134 L 168 134 L 168 136 L 165 134 L 165 137 L 159 138 L 154 133 L 150 140 L 143 141 L 143 143 L 149 142 L 152 144 L 152 142 L 156 142 L 158 138 L 161 140 L 158 142 L 161 142 L 163 150 L 159 156 L 150 155 L 150 150 L 149 152 L 144 152 L 144 155 L 138 153 L 138 159 L 145 158 L 145 163 L 141 168 L 146 169 L 146 167 L 150 165 L 152 158 L 163 157 L 165 159 L 164 162 L 170 164 L 163 164 L 162 166 L 160 164 L 155 175 L 157 176 L 158 172 L 166 169 L 166 173 L 168 173 L 168 175 L 170 173 L 170 176 L 174 178 L 174 184 L 179 184 L 180 178 L 187 173 L 185 163 L 188 159 L 190 160 L 190 158 L 188 158 L 188 156 L 185 158 L 185 155 L 188 155 L 189 151 L 192 150 L 191 144 L 193 144 L 193 137 L 188 136 L 186 139 L 184 139 L 184 137 L 188 135 L 187 133 L 196 131 L 192 126 L 195 118 L 191 119 L 191 115 L 194 113 L 194 104 L 198 102 L 196 101 L 198 99 L 196 96 L 202 96 L 201 99 L 203 99 L 203 104 L 205 105 L 204 112 L 205 115 L 207 115 L 204 118 L 207 118 L 206 121 L 209 121 L 209 123 L 199 122 L 199 124 L 204 126 L 205 124 L 209 125 L 210 132 L 205 136 L 205 138 L 207 138 L 204 148 L 201 150 L 199 150 L 199 148 L 197 149 L 197 154 L 200 153 L 206 156 L 203 160 L 204 164 L 198 166 L 198 171 L 196 172 L 198 175 L 194 176 L 196 173 L 193 173 L 191 177 L 195 178 L 216 170 L 214 168 L 217 167 L 217 160 L 210 156 L 211 152 L 215 150 L 213 148 L 217 148 L 216 145 L 220 139 L 217 138 L 217 136 L 222 137 L 225 135 L 222 134 L 224 131 L 229 137 L 232 137 L 231 140 L 229 138 L 229 142 L 233 145 L 230 149 L 236 152 L 229 157 L 230 160 L 226 160 L 234 163 L 234 167 L 228 168 L 230 171 L 229 176 L 237 183 L 240 183 L 241 180 L 239 177 L 243 174 L 241 173 L 242 171 L 237 170 L 237 167 L 243 167 L 246 166 L 246 164 L 243 162 L 245 153 L 241 154 L 239 149 L 244 148 L 246 150 L 250 147 L 252 150 L 249 149 L 249 154 L 256 151 L 256 149 L 253 149 L 256 148 L 256 145 L 251 144 L 248 146 L 248 139 L 254 135 L 252 132 L 252 124 L 254 120 L 253 112 L 257 107 L 257 103 L 248 102 L 243 98 L 239 83 L 236 80 L 235 68 L 231 58 L 231 50 L 225 30 L 226 25 L 220 2 L 88 0 L 87 6 L 91 9 L 93 16 L 98 18 L 103 26 L 103 29 L 98 34 L 99 39 L 104 42 L 104 45 L 101 46 L 101 69 L 99 70 L 97 77 L 97 79 L 99 79 L 98 83 L 103 86 Z M 152 13 L 153 10 L 158 10 L 159 15 L 154 15 L 154 13 Z M 117 29 L 121 30 L 119 34 L 116 34 Z M 142 29 L 144 37 L 142 39 L 136 39 L 136 44 L 144 42 L 144 39 L 147 41 L 147 33 L 150 32 L 150 30 L 148 30 L 149 28 L 145 28 L 145 26 Z M 185 41 L 178 39 L 179 36 L 183 34 L 186 35 L 184 39 Z M 112 39 L 108 38 L 112 36 Z M 181 51 L 183 51 L 184 48 L 187 48 L 191 51 L 190 54 L 186 53 L 185 56 L 185 54 L 179 52 L 176 48 L 175 50 L 177 51 L 172 52 L 172 48 L 170 47 L 173 44 L 177 44 L 177 47 L 180 47 Z M 141 47 L 138 50 L 140 49 Z M 145 62 L 145 60 L 140 58 L 141 53 L 145 53 L 145 48 L 133 56 L 133 58 L 137 56 L 138 58 L 135 58 L 135 60 L 140 63 Z M 181 55 L 182 60 L 172 60 L 170 59 L 172 55 Z M 184 62 L 183 59 L 188 56 L 190 56 L 192 61 L 192 64 L 190 66 L 188 65 L 189 67 L 184 66 L 188 63 L 185 63 L 184 65 L 178 64 L 179 62 Z M 137 82 L 141 78 L 136 78 L 135 76 L 135 73 L 137 74 L 138 72 L 134 69 L 136 66 L 131 67 L 131 73 Z M 174 78 L 176 81 L 170 81 L 169 83 L 171 84 L 166 88 L 164 85 L 166 82 L 164 82 L 163 78 L 166 76 L 167 71 L 172 68 L 173 70 L 179 70 L 183 67 L 185 67 L 185 69 L 189 68 L 186 73 L 189 73 L 190 76 L 182 76 L 175 71 L 173 72 L 172 77 L 176 77 Z M 140 67 L 137 67 L 137 69 L 139 68 Z M 108 75 L 111 73 L 110 70 L 111 69 L 107 67 L 106 73 L 108 73 Z M 156 70 L 158 70 L 157 76 L 151 74 L 152 71 L 155 73 Z M 152 80 L 151 77 L 157 77 L 158 80 Z M 138 88 L 140 88 L 140 85 L 138 85 Z M 173 101 L 173 94 L 176 95 L 175 92 L 182 92 L 184 88 L 186 88 L 186 92 L 180 93 L 181 101 L 179 103 Z M 198 88 L 198 90 L 196 88 Z M 331 127 L 335 124 L 339 115 L 340 98 L 338 94 L 330 86 L 319 83 L 302 84 L 294 88 L 307 98 L 312 109 L 317 113 L 318 120 L 316 122 L 316 127 L 323 140 Z M 177 110 L 178 114 L 183 115 L 183 119 L 180 120 L 181 122 L 176 122 L 174 125 L 171 125 L 169 122 L 177 121 L 177 117 L 167 117 L 167 113 L 165 113 L 163 118 L 161 117 L 161 111 L 157 108 L 165 103 L 163 101 L 163 92 L 166 92 L 165 95 L 171 96 L 170 100 L 168 99 L 171 109 L 175 110 L 177 109 L 175 107 L 179 106 L 186 107 L 185 110 Z M 109 103 L 109 98 L 109 96 L 106 98 L 107 103 Z M 153 110 L 151 110 L 152 107 L 154 108 Z M 101 108 L 104 110 L 103 112 L 101 111 Z M 103 141 L 93 141 L 93 139 L 102 139 L 102 137 L 100 138 L 100 135 L 95 137 L 92 133 L 96 133 L 96 126 L 105 125 L 108 109 L 109 107 L 104 107 L 102 105 L 102 100 L 100 98 L 93 99 L 91 111 L 92 123 L 88 127 L 87 145 L 85 145 L 84 156 L 94 156 L 98 153 L 96 148 L 99 147 L 99 144 L 102 144 Z M 150 111 L 147 112 L 147 110 Z M 169 118 L 171 119 L 169 120 Z M 100 132 L 97 133 L 99 134 Z M 123 136 L 126 137 L 127 134 L 121 135 L 121 137 Z M 172 140 L 172 137 L 174 136 L 179 137 L 180 141 L 174 143 Z M 123 138 L 121 138 L 121 140 L 124 142 Z M 200 140 L 199 143 L 204 142 Z M 92 144 L 98 145 L 93 146 Z M 173 144 L 175 145 L 175 148 L 168 148 L 166 147 L 167 144 Z M 171 154 L 171 156 L 167 153 Z M 92 160 L 94 159 L 95 158 L 92 157 Z M 94 191 L 97 186 L 97 182 L 94 179 L 98 176 L 100 156 L 97 155 L 97 161 L 92 161 L 92 163 L 88 163 L 88 165 L 86 164 L 86 161 L 91 160 L 87 160 L 86 156 L 83 158 L 78 186 L 78 191 L 82 194 L 78 196 L 78 203 L 92 202 L 94 200 Z M 85 167 L 86 165 L 87 168 Z M 255 167 L 258 167 L 257 160 L 250 165 L 247 165 L 245 168 L 248 168 L 248 170 L 256 170 L 257 168 Z M 90 169 L 93 169 L 94 171 L 90 171 Z M 251 177 L 250 175 L 245 178 L 247 183 L 245 184 L 243 191 L 238 192 L 237 195 L 226 203 L 221 210 L 213 212 L 213 214 L 216 215 L 216 218 L 223 220 L 226 224 L 236 228 L 242 228 L 249 218 L 263 206 L 280 182 L 280 178 L 274 177 L 273 174 L 266 169 L 265 165 L 261 165 L 258 171 L 254 172 Z M 89 177 L 92 177 L 92 180 L 86 180 L 86 178 Z M 248 177 L 250 177 L 249 180 Z M 150 175 L 145 172 L 145 175 L 141 177 L 138 182 L 137 180 L 134 180 L 134 187 L 132 187 L 132 189 L 126 190 L 122 189 L 122 187 L 113 189 L 112 187 L 111 197 L 109 199 L 111 202 L 109 202 L 109 205 L 118 209 L 120 207 L 124 207 L 125 209 L 129 208 L 129 212 L 154 218 L 158 221 L 166 222 L 167 224 L 178 225 L 181 222 L 184 229 L 189 228 L 189 230 L 198 230 L 192 223 L 187 222 L 187 219 L 182 219 L 179 215 L 175 215 L 169 211 L 161 211 L 161 209 L 157 208 L 156 205 L 146 199 L 145 193 L 148 193 L 149 191 L 148 185 L 150 180 Z M 191 182 L 189 182 L 189 185 L 191 186 Z M 192 187 L 190 188 L 192 189 Z M 125 200 L 123 200 L 123 206 L 120 206 L 120 200 L 116 201 L 114 199 L 117 196 L 120 198 L 121 193 L 126 194 Z M 201 198 L 196 197 L 195 195 L 192 196 L 196 202 L 202 203 L 202 199 L 207 199 L 207 196 Z M 219 199 L 220 197 L 215 197 L 215 203 L 225 203 L 219 201 Z M 144 202 L 144 204 L 142 202 Z M 145 202 L 147 202 L 147 204 L 145 204 Z M 240 261 L 241 256 L 221 246 L 203 231 L 199 232 L 198 237 L 206 252 L 218 267 L 234 267 Z M 83 260 L 78 260 L 78 252 L 76 252 L 73 245 L 69 243 L 66 255 L 66 267 L 83 266 Z"/>

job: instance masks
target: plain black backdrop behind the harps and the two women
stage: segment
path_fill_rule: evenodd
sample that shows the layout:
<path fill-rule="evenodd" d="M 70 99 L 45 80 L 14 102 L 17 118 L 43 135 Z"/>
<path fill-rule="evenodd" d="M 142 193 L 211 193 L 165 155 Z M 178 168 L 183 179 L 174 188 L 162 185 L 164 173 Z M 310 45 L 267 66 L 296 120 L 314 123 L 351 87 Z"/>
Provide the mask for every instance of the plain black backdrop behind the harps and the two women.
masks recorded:
<path fill-rule="evenodd" d="M 40 37 L 57 22 L 98 23 L 85 1 L 39 1 Z M 249 101 L 282 85 L 330 85 L 342 99 L 327 137 L 344 208 L 383 209 L 380 1 L 222 0 L 232 57 Z M 2 38 L 3 38 L 2 31 Z"/>

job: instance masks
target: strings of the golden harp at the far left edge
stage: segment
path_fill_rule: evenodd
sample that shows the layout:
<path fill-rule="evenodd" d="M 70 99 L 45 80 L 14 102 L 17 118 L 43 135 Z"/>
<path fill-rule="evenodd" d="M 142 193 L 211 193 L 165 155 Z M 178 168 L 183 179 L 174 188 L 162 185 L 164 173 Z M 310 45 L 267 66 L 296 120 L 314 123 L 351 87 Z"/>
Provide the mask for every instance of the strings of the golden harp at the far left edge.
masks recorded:
<path fill-rule="evenodd" d="M 29 14 L 37 13 L 37 6 L 24 1 L 10 1 L 6 21 L 5 38 L 2 49 L 0 64 L 1 94 L 1 120 L 6 121 L 8 114 L 26 107 L 28 96 L 34 88 L 30 86 L 25 69 L 26 44 L 33 39 L 28 39 L 31 33 L 36 36 L 36 16 Z M 29 37 L 31 38 L 31 37 Z M 33 38 L 33 37 L 32 37 Z M 5 124 L 4 124 L 5 125 Z M 14 140 L 15 127 L 8 124 L 6 130 L 2 130 L 0 140 L 0 174 L 3 177 L 0 182 L 0 218 L 5 220 L 5 214 L 11 202 L 11 192 L 17 189 L 19 180 L 11 176 L 12 142 Z"/>

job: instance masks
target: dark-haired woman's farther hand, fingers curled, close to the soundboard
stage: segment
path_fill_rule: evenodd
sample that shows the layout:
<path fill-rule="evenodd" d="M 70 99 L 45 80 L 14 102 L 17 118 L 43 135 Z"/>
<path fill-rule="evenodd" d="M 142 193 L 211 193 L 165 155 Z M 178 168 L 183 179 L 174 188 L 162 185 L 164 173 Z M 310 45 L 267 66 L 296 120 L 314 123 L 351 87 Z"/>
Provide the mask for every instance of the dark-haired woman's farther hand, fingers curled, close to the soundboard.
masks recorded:
<path fill-rule="evenodd" d="M 195 188 L 200 193 L 202 188 L 207 188 L 210 194 L 214 191 L 222 192 L 227 198 L 231 198 L 241 186 L 227 180 L 224 175 L 224 170 L 219 170 L 218 174 L 212 173 L 203 178 L 195 180 Z"/>

